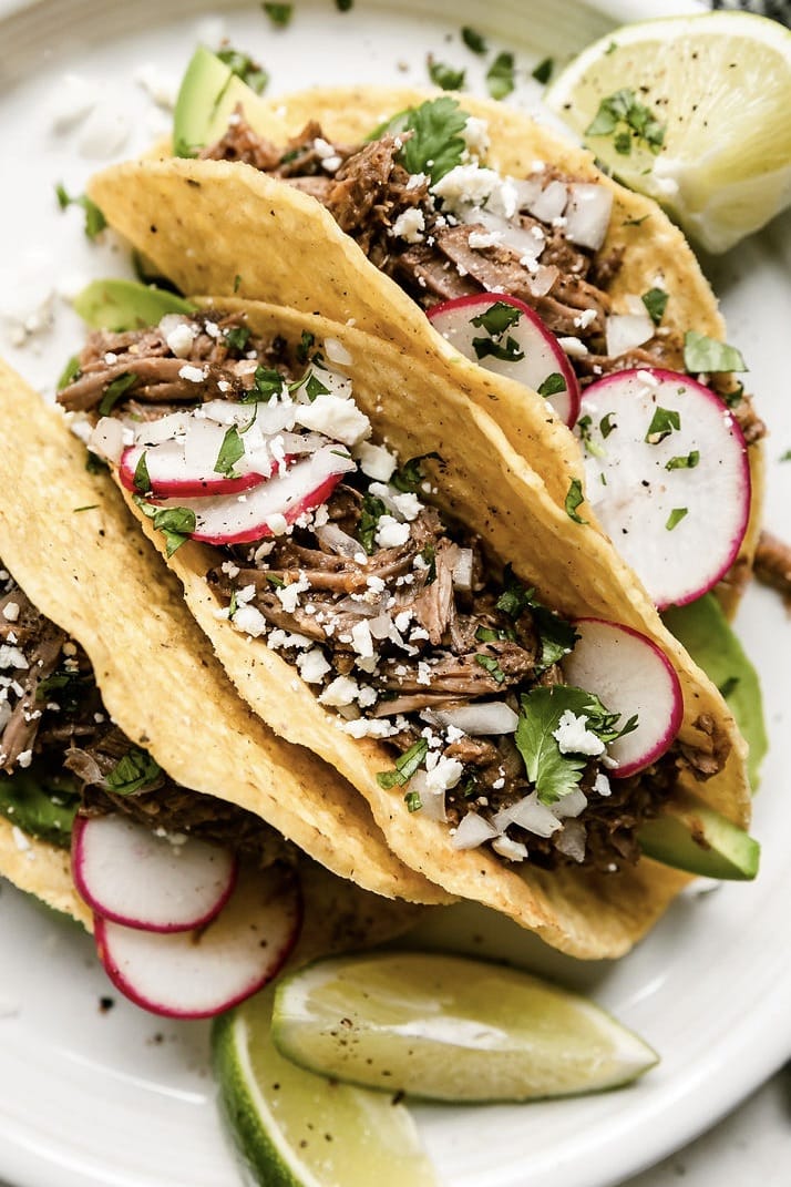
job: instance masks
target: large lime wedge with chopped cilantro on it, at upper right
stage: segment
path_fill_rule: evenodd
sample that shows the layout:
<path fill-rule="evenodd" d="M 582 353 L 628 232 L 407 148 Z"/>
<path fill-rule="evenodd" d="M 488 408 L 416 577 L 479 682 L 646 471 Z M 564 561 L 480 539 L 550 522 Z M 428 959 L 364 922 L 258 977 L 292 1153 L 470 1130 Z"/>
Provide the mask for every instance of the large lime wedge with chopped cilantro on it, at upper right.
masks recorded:
<path fill-rule="evenodd" d="M 613 173 L 723 252 L 791 203 L 791 31 L 741 12 L 640 21 L 546 95 Z"/>

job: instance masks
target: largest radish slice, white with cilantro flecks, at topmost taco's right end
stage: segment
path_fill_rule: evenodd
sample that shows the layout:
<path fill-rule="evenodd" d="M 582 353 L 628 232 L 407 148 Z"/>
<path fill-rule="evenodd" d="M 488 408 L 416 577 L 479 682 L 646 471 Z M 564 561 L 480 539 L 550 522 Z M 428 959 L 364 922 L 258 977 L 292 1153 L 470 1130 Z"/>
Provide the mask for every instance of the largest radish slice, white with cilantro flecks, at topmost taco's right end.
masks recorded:
<path fill-rule="evenodd" d="M 666 370 L 607 375 L 581 412 L 587 496 L 605 531 L 659 609 L 701 597 L 749 518 L 739 425 L 714 392 Z"/>

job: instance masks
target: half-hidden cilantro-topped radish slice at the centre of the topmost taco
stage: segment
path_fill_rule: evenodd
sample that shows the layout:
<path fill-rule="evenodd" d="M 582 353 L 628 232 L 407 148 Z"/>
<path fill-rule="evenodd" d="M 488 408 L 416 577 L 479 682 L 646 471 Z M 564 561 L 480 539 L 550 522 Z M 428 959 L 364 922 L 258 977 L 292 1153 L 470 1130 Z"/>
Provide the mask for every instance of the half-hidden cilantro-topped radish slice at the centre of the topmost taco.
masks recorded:
<path fill-rule="evenodd" d="M 484 326 L 473 325 L 473 318 L 485 315 L 493 305 L 510 305 L 519 313 L 518 320 L 499 336 L 490 335 Z M 434 305 L 428 317 L 465 358 L 498 375 L 508 375 L 541 395 L 546 394 L 567 425 L 575 423 L 580 408 L 576 376 L 555 336 L 524 301 L 500 293 L 472 293 Z M 478 347 L 473 345 L 477 339 Z M 506 348 L 509 339 L 513 342 L 512 353 L 521 357 L 497 358 L 484 354 L 489 344 L 495 349 Z"/>

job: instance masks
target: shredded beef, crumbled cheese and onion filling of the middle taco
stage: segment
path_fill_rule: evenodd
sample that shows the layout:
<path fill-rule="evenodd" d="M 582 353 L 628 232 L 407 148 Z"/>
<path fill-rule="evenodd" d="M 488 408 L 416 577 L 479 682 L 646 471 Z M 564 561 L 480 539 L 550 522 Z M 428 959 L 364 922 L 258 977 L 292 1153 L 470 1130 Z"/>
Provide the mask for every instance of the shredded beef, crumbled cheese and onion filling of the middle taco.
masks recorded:
<path fill-rule="evenodd" d="M 608 748 L 639 722 L 567 683 L 575 626 L 439 514 L 442 459 L 370 439 L 349 361 L 337 339 L 254 336 L 240 313 L 168 315 L 91 334 L 58 399 L 168 554 L 218 550 L 216 617 L 279 652 L 338 730 L 387 745 L 377 780 L 401 811 L 505 863 L 636 862 L 680 772 L 715 775 L 727 741 L 706 717 L 701 748 L 682 745 L 676 722 L 619 772 Z"/>

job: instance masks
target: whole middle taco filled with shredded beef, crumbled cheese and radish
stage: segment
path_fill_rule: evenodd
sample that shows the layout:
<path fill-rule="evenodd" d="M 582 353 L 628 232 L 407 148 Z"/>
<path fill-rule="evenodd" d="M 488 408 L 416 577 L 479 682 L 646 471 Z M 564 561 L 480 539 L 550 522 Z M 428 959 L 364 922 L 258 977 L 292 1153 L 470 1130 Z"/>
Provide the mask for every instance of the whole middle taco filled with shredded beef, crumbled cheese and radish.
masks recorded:
<path fill-rule="evenodd" d="M 716 688 L 581 493 L 561 509 L 441 373 L 317 315 L 193 304 L 95 331 L 59 401 L 242 697 L 449 894 L 578 956 L 626 951 L 685 882 L 640 855 L 642 824 L 690 788 L 748 819 Z M 570 677 L 599 627 L 606 698 Z M 651 697 L 636 722 L 618 693 L 630 640 L 661 673 L 659 737 Z"/>

